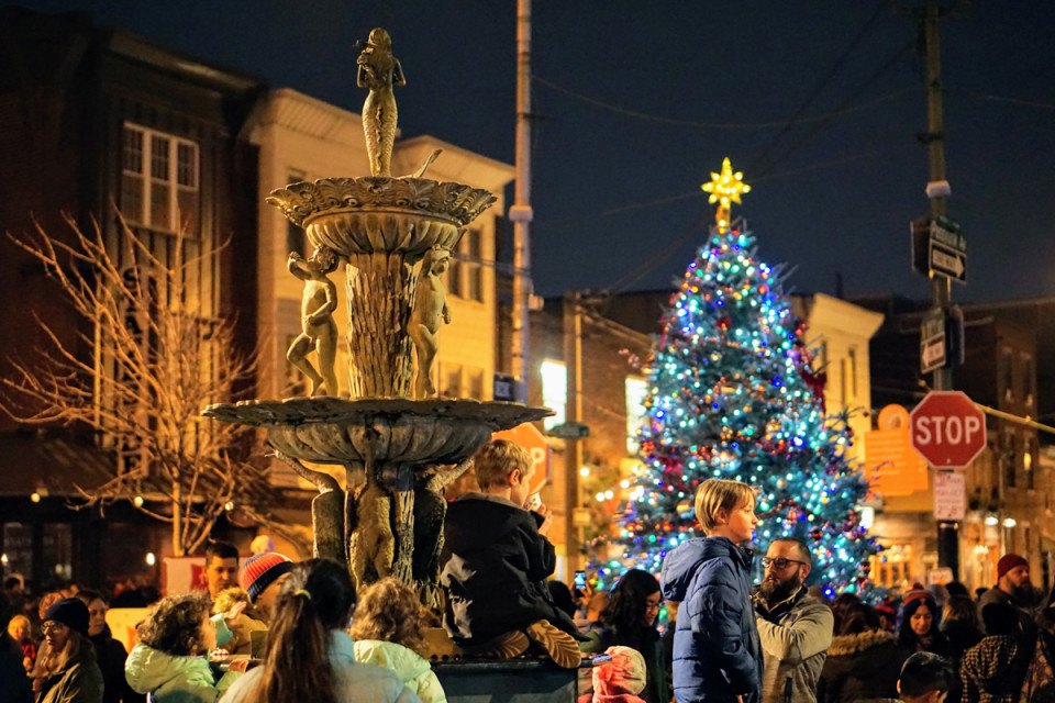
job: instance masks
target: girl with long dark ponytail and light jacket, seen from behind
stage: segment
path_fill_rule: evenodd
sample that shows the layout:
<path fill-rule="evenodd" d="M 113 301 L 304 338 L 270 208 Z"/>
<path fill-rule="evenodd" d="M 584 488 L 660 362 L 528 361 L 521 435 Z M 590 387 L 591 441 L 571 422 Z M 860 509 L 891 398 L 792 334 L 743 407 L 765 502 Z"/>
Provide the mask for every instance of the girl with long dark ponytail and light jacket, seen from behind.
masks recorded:
<path fill-rule="evenodd" d="M 267 657 L 222 703 L 420 703 L 387 669 L 355 661 L 345 632 L 355 594 L 336 561 L 298 563 L 282 583 L 267 633 Z"/>

